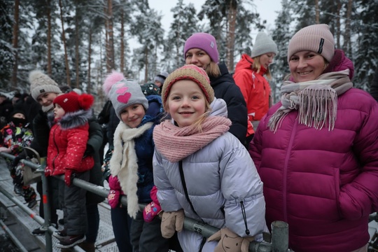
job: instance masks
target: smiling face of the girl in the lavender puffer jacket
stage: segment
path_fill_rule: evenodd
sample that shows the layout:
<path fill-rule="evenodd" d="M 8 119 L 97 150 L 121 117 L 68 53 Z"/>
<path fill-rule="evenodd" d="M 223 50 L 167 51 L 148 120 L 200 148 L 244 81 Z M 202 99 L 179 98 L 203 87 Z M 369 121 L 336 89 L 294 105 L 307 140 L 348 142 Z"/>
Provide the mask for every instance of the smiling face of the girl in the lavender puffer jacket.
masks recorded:
<path fill-rule="evenodd" d="M 168 113 L 179 127 L 192 125 L 206 112 L 206 97 L 197 83 L 179 80 L 167 97 Z"/>

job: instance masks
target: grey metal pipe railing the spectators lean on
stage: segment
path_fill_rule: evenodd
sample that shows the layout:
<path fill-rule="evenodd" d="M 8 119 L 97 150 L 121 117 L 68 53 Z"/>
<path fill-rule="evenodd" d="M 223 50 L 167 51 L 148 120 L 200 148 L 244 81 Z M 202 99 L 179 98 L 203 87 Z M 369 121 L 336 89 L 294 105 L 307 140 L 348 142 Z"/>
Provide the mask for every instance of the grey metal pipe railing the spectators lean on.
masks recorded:
<path fill-rule="evenodd" d="M 13 155 L 10 155 L 8 153 L 0 153 L 4 158 L 9 158 L 13 160 L 15 157 Z M 52 251 L 52 240 L 51 240 L 51 233 L 56 231 L 54 227 L 52 227 L 49 223 L 50 220 L 50 202 L 48 202 L 48 188 L 47 188 L 47 181 L 44 175 L 44 167 L 41 165 L 36 165 L 33 162 L 30 162 L 29 160 L 20 160 L 20 162 L 24 163 L 25 165 L 31 167 L 32 169 L 36 169 L 37 172 L 42 173 L 42 186 L 43 186 L 43 210 L 45 213 L 45 220 L 39 216 L 34 216 L 34 220 L 36 220 L 38 223 L 43 225 L 42 227 L 45 228 L 45 230 L 48 230 L 49 232 L 45 232 L 46 237 L 46 251 Z M 61 179 L 64 181 L 64 176 L 55 176 L 58 179 Z M 87 191 L 90 191 L 91 193 L 95 193 L 97 195 L 100 195 L 104 198 L 108 197 L 109 189 L 104 188 L 103 186 L 97 186 L 92 183 L 89 183 L 87 181 L 83 181 L 81 179 L 74 178 L 72 180 L 72 184 L 75 186 L 78 186 L 80 188 L 83 188 Z M 0 187 L 1 193 L 4 195 L 9 195 L 9 193 L 4 192 L 2 188 Z M 10 195 L 10 197 L 13 197 L 13 195 Z M 21 207 L 22 210 L 26 211 L 28 214 L 30 214 L 30 209 L 28 207 L 25 207 L 24 204 L 22 204 L 17 199 L 13 199 L 13 202 L 17 204 L 19 207 Z M 17 203 L 16 203 L 17 202 Z M 120 202 L 127 206 L 127 197 L 125 195 L 122 195 L 120 197 Z M 139 204 L 139 207 L 141 211 L 143 211 L 144 207 L 146 207 L 145 204 Z M 32 211 L 31 211 L 32 212 Z M 34 212 L 33 212 L 34 213 Z M 218 228 L 215 228 L 211 225 L 207 225 L 206 223 L 201 223 L 199 221 L 195 221 L 192 218 L 185 217 L 184 219 L 184 225 L 183 228 L 189 231 L 193 231 L 199 235 L 202 235 L 203 237 L 210 237 L 211 235 L 214 235 L 214 233 L 218 232 Z M 288 223 L 285 223 L 283 221 L 274 221 L 272 223 L 272 234 L 269 233 L 263 233 L 263 241 L 251 241 L 249 244 L 249 251 L 250 252 L 286 252 L 290 251 L 288 248 Z M 83 251 L 78 246 L 75 246 L 75 248 L 78 248 L 77 251 Z"/>

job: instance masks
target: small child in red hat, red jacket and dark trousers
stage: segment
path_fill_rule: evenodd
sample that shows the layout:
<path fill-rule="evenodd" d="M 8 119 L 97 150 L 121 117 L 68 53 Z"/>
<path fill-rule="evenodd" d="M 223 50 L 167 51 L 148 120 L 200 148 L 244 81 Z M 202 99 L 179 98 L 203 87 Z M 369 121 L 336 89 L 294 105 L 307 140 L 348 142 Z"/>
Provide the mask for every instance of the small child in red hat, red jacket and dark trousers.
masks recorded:
<path fill-rule="evenodd" d="M 87 216 L 86 190 L 71 185 L 73 176 L 89 181 L 94 165 L 92 155 L 85 156 L 89 137 L 88 120 L 92 117 L 94 98 L 90 94 L 69 92 L 54 99 L 54 118 L 48 139 L 45 176 L 64 174 L 59 181 L 59 201 L 64 212 L 64 230 L 53 235 L 59 239 L 59 248 L 71 248 L 85 241 Z M 65 185 L 64 185 L 65 183 Z"/>

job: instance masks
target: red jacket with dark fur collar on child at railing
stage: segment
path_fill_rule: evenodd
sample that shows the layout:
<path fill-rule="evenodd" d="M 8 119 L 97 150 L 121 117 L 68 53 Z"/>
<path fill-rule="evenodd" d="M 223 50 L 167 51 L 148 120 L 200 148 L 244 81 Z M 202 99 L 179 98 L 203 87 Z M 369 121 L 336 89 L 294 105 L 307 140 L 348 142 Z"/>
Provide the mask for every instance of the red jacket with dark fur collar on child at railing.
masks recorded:
<path fill-rule="evenodd" d="M 48 165 L 45 168 L 47 174 L 64 174 L 65 169 L 73 169 L 74 172 L 92 169 L 92 156 L 84 157 L 89 136 L 89 125 L 85 120 L 88 115 L 85 112 L 87 111 L 66 113 L 59 123 L 51 127 L 48 139 Z"/>

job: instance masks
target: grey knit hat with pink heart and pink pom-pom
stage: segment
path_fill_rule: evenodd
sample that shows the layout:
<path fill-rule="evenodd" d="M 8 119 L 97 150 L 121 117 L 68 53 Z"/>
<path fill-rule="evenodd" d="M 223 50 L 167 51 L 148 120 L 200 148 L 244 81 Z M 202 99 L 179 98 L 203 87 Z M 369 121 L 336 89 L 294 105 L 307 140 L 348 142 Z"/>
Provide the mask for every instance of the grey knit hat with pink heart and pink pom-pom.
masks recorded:
<path fill-rule="evenodd" d="M 108 94 L 111 104 L 116 111 L 116 115 L 121 119 L 120 113 L 127 106 L 142 104 L 144 109 L 148 109 L 148 100 L 144 96 L 141 85 L 132 79 L 126 79 L 123 73 L 113 71 L 106 77 L 102 89 Z"/>

